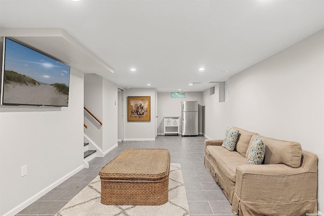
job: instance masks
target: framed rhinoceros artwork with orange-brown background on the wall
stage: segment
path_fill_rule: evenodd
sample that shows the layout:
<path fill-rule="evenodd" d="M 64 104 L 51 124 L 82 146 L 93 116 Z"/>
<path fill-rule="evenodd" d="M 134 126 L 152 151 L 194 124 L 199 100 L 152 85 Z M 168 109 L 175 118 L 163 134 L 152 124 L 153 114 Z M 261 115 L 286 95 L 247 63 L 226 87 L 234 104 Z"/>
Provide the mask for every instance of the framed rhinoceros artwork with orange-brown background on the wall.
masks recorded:
<path fill-rule="evenodd" d="M 128 97 L 127 120 L 151 121 L 151 97 Z"/>

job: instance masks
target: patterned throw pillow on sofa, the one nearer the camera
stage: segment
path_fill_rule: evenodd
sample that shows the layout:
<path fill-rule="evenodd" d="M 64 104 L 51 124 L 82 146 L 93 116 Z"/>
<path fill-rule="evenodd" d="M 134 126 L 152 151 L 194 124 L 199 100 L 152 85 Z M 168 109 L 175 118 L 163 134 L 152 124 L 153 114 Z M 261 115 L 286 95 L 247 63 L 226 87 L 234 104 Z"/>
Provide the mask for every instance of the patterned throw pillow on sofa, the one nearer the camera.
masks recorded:
<path fill-rule="evenodd" d="M 248 155 L 248 164 L 261 164 L 265 154 L 265 144 L 260 137 L 255 138 Z"/>

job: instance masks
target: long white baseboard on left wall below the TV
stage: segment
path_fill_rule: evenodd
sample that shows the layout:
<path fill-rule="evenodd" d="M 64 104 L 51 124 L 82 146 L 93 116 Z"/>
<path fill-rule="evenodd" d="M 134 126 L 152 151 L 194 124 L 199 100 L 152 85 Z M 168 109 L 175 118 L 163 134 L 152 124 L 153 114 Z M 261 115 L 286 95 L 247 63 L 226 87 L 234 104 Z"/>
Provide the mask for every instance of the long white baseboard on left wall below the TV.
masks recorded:
<path fill-rule="evenodd" d="M 16 215 L 17 213 L 19 213 L 20 211 L 25 209 L 28 205 L 35 202 L 37 199 L 41 198 L 42 196 L 44 196 L 45 194 L 47 194 L 48 192 L 50 192 L 51 190 L 53 190 L 54 188 L 59 186 L 61 183 L 66 181 L 68 178 L 70 178 L 71 176 L 73 176 L 78 171 L 82 170 L 83 168 L 84 168 L 84 164 L 82 164 L 81 166 L 79 166 L 76 169 L 72 170 L 71 172 L 69 172 L 67 175 L 65 175 L 64 177 L 62 177 L 58 181 L 54 182 L 53 184 L 51 184 L 48 187 L 44 188 L 43 190 L 39 191 L 38 193 L 36 193 L 32 197 L 30 197 L 29 199 L 25 200 L 21 204 L 17 205 L 16 207 L 11 209 L 10 211 L 6 212 L 5 214 L 3 214 L 3 216 Z"/>

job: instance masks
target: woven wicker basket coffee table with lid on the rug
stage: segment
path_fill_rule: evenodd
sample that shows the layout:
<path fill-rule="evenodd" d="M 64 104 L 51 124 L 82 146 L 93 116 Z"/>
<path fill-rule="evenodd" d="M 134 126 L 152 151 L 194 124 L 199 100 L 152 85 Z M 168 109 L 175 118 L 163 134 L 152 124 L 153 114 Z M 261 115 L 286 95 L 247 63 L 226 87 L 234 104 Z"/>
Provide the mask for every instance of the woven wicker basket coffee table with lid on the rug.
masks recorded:
<path fill-rule="evenodd" d="M 167 149 L 127 149 L 99 171 L 101 203 L 162 205 L 169 197 Z"/>

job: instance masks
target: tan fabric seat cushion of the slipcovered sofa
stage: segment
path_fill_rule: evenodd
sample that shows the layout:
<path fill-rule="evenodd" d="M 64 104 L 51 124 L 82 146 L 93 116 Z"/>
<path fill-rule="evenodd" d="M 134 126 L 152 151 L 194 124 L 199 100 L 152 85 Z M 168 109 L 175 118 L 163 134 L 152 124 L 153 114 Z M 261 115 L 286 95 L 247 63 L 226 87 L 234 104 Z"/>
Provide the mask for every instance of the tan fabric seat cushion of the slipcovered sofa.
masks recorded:
<path fill-rule="evenodd" d="M 218 168 L 232 182 L 235 182 L 236 167 L 247 164 L 247 158 L 236 151 L 228 151 L 221 146 L 207 146 L 206 154 L 216 161 Z"/>

